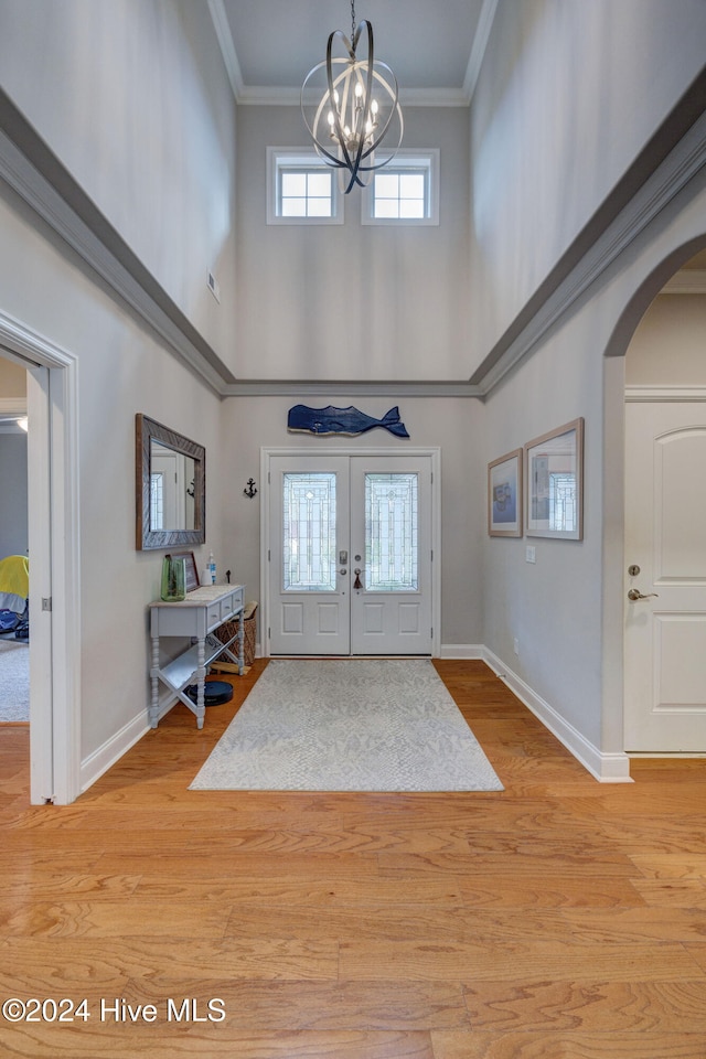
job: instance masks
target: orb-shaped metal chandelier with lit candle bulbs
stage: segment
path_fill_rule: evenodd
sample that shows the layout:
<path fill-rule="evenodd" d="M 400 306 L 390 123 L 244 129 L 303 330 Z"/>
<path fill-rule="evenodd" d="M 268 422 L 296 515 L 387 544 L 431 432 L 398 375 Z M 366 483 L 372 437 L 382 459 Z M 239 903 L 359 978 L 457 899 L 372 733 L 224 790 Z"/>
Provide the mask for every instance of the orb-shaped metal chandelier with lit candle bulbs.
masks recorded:
<path fill-rule="evenodd" d="M 367 44 L 362 58 L 357 52 L 361 39 Z M 343 56 L 333 54 L 336 40 L 346 53 Z M 365 20 L 356 24 L 352 0 L 351 39 L 334 30 L 325 61 L 309 71 L 301 86 L 301 113 L 313 146 L 327 165 L 339 170 L 346 195 L 355 184 L 365 186 L 371 173 L 386 165 L 398 150 L 404 124 L 397 95 L 394 73 L 375 58 L 373 26 Z M 376 161 L 375 151 L 388 133 L 385 156 Z"/>

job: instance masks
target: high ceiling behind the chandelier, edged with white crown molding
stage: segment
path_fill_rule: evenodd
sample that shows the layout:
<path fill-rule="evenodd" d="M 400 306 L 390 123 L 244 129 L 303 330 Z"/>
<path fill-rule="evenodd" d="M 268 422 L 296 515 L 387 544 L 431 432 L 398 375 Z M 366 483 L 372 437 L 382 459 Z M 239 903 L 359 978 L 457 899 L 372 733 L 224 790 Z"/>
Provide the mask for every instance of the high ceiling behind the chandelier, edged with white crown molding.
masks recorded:
<path fill-rule="evenodd" d="M 392 66 L 400 101 L 470 99 L 498 0 L 356 0 Z M 239 103 L 293 103 L 325 57 L 333 30 L 351 35 L 350 0 L 208 0 Z"/>

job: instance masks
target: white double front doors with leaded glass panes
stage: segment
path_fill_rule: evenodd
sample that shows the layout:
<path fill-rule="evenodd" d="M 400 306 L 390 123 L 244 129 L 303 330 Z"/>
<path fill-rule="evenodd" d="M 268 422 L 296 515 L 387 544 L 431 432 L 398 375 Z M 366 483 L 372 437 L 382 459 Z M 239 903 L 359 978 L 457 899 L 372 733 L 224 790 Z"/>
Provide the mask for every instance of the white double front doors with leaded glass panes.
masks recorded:
<path fill-rule="evenodd" d="M 270 654 L 431 654 L 431 457 L 269 464 Z"/>

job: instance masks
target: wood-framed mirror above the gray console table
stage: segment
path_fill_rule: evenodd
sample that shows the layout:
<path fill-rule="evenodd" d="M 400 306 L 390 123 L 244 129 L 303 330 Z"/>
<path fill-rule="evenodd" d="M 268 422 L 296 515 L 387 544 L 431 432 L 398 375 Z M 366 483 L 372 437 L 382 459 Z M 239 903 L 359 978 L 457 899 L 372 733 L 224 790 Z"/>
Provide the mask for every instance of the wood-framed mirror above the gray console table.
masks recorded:
<path fill-rule="evenodd" d="M 206 539 L 206 450 L 138 413 L 135 417 L 136 547 L 193 547 Z"/>

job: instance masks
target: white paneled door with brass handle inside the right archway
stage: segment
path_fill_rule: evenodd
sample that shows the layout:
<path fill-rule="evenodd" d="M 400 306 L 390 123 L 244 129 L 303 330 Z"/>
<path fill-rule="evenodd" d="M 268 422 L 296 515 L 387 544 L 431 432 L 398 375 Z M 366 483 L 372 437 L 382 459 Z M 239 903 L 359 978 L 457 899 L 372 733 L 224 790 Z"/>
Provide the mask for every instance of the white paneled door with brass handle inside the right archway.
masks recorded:
<path fill-rule="evenodd" d="M 625 750 L 706 751 L 706 405 L 625 408 Z"/>

